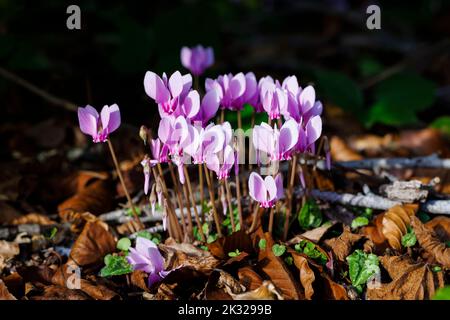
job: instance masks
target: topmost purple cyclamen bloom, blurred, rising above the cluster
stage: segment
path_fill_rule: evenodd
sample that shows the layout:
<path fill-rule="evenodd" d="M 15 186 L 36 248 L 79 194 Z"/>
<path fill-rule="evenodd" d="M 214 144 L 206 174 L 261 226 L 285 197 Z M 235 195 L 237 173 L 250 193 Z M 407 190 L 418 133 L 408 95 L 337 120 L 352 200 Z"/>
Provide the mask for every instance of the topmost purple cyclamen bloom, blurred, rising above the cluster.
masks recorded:
<path fill-rule="evenodd" d="M 183 67 L 191 71 L 195 76 L 203 74 L 214 63 L 213 49 L 211 47 L 204 48 L 201 45 L 193 48 L 181 48 L 180 57 Z"/>

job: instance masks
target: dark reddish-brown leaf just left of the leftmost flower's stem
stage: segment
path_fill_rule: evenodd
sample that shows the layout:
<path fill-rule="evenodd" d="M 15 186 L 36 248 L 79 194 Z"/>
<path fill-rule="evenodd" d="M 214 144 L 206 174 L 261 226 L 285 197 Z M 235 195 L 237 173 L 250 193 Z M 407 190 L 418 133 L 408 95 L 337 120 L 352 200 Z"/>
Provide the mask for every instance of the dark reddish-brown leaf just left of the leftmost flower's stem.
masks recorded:
<path fill-rule="evenodd" d="M 111 184 L 106 180 L 96 180 L 58 206 L 58 212 L 91 212 L 94 215 L 107 212 L 113 206 Z"/>

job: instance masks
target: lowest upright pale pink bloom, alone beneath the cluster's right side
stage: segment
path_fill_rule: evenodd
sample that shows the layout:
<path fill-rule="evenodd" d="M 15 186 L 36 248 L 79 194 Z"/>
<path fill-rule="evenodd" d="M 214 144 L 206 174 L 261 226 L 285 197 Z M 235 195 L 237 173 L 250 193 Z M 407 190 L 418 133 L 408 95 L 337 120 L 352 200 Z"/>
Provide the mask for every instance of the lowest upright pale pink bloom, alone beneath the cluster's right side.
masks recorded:
<path fill-rule="evenodd" d="M 248 179 L 248 190 L 253 200 L 259 202 L 263 208 L 272 207 L 283 194 L 283 179 L 278 174 L 275 179 L 272 176 L 266 176 L 264 179 L 252 172 Z"/>

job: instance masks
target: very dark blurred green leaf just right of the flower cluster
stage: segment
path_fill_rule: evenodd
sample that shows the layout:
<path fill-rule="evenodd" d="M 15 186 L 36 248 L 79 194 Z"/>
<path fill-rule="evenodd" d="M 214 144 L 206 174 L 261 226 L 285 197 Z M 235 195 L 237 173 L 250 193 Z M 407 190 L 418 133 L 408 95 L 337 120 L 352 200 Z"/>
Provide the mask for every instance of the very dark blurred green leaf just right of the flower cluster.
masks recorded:
<path fill-rule="evenodd" d="M 318 70 L 315 72 L 318 92 L 345 111 L 356 115 L 363 111 L 364 98 L 358 84 L 343 73 Z"/>

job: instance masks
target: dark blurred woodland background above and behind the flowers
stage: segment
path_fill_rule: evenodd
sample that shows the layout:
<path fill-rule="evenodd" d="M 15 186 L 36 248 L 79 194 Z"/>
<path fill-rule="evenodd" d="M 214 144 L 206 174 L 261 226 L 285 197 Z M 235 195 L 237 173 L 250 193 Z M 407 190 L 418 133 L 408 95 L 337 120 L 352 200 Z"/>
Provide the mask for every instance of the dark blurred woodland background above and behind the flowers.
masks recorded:
<path fill-rule="evenodd" d="M 81 30 L 66 28 L 70 4 L 81 8 Z M 366 28 L 370 4 L 381 7 L 381 30 Z M 443 0 L 0 0 L 0 66 L 80 106 L 118 103 L 125 123 L 154 127 L 159 117 L 144 93 L 145 72 L 187 72 L 181 47 L 203 44 L 216 56 L 206 76 L 295 74 L 361 128 L 380 132 L 450 114 L 449 21 Z M 77 124 L 74 113 L 3 78 L 0 105 L 8 125 Z M 329 117 L 329 130 L 345 131 Z"/>

